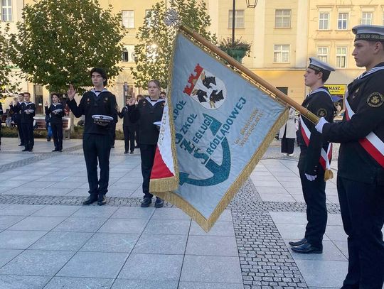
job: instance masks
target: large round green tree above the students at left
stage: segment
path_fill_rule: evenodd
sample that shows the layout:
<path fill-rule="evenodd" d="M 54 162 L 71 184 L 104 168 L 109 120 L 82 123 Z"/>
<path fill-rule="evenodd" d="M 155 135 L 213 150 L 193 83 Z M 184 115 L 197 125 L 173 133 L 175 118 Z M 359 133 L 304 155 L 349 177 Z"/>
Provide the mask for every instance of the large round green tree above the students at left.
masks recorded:
<path fill-rule="evenodd" d="M 26 5 L 11 36 L 11 59 L 27 79 L 65 92 L 68 83 L 90 86 L 87 71 L 102 67 L 109 77 L 122 70 L 121 16 L 97 0 L 41 0 Z M 78 91 L 81 89 L 78 89 Z"/>

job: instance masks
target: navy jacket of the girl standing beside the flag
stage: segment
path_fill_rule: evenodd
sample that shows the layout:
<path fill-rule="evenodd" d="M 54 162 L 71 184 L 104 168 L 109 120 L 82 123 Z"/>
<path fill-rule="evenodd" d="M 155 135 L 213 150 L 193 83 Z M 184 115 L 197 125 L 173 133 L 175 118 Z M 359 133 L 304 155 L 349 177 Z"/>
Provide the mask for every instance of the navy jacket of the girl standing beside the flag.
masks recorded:
<path fill-rule="evenodd" d="M 153 105 L 152 105 L 153 104 Z M 158 99 L 152 102 L 149 97 L 141 99 L 137 106 L 129 107 L 129 119 L 139 120 L 139 140 L 143 144 L 155 145 L 159 138 L 159 129 L 154 122 L 161 121 L 165 101 Z"/>

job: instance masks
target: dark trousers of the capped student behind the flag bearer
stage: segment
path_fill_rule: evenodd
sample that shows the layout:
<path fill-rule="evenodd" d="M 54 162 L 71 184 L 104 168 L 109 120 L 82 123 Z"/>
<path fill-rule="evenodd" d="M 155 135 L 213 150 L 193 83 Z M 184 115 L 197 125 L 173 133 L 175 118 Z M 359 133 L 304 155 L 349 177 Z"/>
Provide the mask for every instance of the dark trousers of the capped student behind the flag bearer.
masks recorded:
<path fill-rule="evenodd" d="M 306 220 L 308 221 L 304 237 L 309 244 L 322 249 L 327 222 L 324 170 L 313 181 L 306 178 L 303 170 L 299 170 L 299 173 L 306 203 Z"/>

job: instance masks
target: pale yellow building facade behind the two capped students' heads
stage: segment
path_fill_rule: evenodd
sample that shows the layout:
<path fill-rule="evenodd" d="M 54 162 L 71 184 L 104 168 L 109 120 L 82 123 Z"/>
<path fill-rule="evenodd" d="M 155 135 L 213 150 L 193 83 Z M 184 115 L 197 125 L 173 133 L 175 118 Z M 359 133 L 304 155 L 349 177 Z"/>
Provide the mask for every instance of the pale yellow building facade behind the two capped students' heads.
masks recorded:
<path fill-rule="evenodd" d="M 311 0 L 309 1 L 308 55 L 324 57 L 336 68 L 331 73 L 328 84 L 341 84 L 343 87 L 360 75 L 364 69 L 357 67 L 353 59 L 353 26 L 367 23 L 384 25 L 384 2 L 382 0 Z M 324 27 L 324 15 L 329 16 L 328 27 Z M 364 17 L 365 16 L 365 17 Z M 367 17 L 372 16 L 372 17 Z M 323 51 L 321 51 L 323 50 Z M 345 65 L 341 50 L 346 50 Z M 344 52 L 344 51 L 342 51 Z"/>

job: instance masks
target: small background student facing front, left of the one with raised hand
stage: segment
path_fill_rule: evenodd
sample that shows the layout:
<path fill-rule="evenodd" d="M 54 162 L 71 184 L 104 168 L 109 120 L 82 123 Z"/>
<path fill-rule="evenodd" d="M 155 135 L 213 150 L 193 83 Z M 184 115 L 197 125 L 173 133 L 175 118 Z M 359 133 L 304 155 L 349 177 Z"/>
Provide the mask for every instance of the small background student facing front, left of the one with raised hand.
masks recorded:
<path fill-rule="evenodd" d="M 21 131 L 24 138 L 23 151 L 32 151 L 35 144 L 33 137 L 33 116 L 35 116 L 36 107 L 31 100 L 31 94 L 24 92 L 24 102 L 20 105 L 21 110 Z"/>

